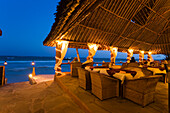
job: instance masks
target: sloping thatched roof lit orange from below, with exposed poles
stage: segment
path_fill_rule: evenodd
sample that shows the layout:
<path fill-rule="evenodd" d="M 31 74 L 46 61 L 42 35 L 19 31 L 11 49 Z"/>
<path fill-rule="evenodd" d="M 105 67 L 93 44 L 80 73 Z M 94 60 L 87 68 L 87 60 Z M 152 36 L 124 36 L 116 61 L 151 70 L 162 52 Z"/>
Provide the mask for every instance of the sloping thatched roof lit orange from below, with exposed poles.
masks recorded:
<path fill-rule="evenodd" d="M 170 54 L 170 0 L 61 0 L 55 23 L 44 40 L 70 41 L 70 48 L 155 51 Z"/>

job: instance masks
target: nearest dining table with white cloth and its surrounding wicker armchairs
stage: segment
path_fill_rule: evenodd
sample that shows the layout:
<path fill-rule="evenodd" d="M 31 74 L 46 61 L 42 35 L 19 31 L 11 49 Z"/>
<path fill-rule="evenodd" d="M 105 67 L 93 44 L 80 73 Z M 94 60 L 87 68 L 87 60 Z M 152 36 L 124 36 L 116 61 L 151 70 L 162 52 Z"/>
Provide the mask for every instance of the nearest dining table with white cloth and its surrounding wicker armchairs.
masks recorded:
<path fill-rule="evenodd" d="M 139 63 L 117 67 L 89 65 L 84 68 L 77 67 L 79 86 L 103 101 L 119 97 L 142 107 L 155 101 L 156 85 L 162 75 L 155 75 L 146 67 L 140 67 Z"/>

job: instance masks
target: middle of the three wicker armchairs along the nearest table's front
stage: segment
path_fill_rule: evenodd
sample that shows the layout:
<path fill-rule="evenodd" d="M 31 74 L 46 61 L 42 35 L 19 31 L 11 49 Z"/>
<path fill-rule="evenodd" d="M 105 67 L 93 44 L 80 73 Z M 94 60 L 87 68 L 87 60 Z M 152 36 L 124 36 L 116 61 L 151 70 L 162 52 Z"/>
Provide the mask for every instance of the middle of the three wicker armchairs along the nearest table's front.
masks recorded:
<path fill-rule="evenodd" d="M 119 96 L 119 80 L 97 72 L 90 72 L 92 93 L 100 100 Z"/>

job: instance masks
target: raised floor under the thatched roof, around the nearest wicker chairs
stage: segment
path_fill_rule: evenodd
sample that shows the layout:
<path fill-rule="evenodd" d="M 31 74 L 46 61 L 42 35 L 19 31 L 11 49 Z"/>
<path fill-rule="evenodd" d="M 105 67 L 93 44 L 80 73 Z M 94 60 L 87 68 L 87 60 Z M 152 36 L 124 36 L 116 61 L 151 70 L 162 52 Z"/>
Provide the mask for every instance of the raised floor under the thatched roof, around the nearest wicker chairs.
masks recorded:
<path fill-rule="evenodd" d="M 155 102 L 143 108 L 124 98 L 111 98 L 101 101 L 90 91 L 80 88 L 78 78 L 67 75 L 58 77 L 58 79 L 93 113 L 168 113 L 168 84 L 163 82 L 157 84 Z"/>

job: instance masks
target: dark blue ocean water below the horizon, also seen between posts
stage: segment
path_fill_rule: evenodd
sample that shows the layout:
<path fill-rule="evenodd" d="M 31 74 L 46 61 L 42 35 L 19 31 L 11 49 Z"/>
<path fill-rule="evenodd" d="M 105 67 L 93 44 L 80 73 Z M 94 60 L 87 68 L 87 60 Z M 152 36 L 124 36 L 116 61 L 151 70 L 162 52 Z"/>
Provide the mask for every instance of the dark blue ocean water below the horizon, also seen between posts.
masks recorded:
<path fill-rule="evenodd" d="M 72 58 L 73 59 L 73 58 Z M 55 74 L 54 66 L 55 60 L 52 57 L 48 58 L 3 58 L 0 59 L 0 66 L 4 65 L 4 61 L 7 61 L 5 66 L 5 77 L 8 79 L 7 83 L 16 83 L 28 81 L 28 75 L 32 73 L 33 66 L 32 61 L 35 62 L 35 73 L 39 74 Z M 72 60 L 63 60 L 63 63 L 71 62 Z M 81 58 L 81 62 L 85 62 L 86 58 Z M 110 62 L 109 58 L 94 58 L 94 62 Z M 126 62 L 126 59 L 116 59 L 116 65 L 122 65 L 120 61 Z M 94 64 L 96 65 L 96 64 Z M 101 64 L 98 64 L 99 66 Z M 62 72 L 70 72 L 69 64 L 61 65 Z"/>

